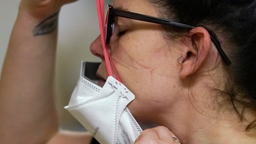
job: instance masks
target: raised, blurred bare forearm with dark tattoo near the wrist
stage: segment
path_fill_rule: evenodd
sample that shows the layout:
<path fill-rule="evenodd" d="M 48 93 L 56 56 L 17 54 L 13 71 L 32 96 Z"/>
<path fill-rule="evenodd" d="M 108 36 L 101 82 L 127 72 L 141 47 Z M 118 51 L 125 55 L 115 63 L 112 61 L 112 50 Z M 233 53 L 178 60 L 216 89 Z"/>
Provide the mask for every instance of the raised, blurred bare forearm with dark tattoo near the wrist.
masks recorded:
<path fill-rule="evenodd" d="M 0 143 L 43 143 L 57 130 L 53 100 L 57 15 L 41 23 L 45 19 L 19 11 L 0 80 Z"/>

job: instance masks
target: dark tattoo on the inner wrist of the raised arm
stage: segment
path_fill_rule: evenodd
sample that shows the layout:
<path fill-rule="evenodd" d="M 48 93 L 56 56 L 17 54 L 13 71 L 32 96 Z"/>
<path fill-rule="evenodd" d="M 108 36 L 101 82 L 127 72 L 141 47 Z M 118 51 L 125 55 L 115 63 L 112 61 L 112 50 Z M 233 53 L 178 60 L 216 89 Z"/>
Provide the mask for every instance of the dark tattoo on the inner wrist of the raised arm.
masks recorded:
<path fill-rule="evenodd" d="M 54 13 L 38 24 L 33 30 L 34 36 L 52 33 L 58 26 L 58 15 L 59 12 Z"/>

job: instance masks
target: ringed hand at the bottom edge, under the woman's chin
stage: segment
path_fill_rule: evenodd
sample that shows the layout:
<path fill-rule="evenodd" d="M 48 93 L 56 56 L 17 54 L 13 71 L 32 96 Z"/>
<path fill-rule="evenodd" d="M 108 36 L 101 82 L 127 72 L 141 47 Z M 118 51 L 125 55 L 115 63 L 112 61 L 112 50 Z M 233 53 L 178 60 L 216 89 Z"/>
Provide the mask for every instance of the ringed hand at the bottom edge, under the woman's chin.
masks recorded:
<path fill-rule="evenodd" d="M 144 130 L 134 144 L 181 144 L 178 138 L 164 126 Z"/>

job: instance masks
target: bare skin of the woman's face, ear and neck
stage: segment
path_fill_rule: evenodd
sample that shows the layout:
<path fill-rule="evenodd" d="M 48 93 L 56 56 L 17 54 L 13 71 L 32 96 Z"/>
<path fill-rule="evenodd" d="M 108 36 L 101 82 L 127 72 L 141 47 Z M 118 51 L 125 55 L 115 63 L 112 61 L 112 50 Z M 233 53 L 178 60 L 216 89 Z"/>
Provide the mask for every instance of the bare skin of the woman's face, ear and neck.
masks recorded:
<path fill-rule="evenodd" d="M 159 12 L 143 0 L 115 0 L 113 7 L 151 16 Z M 218 107 L 213 89 L 223 89 L 224 64 L 208 31 L 197 27 L 167 40 L 162 31 L 132 19 L 115 21 L 111 56 L 124 85 L 136 95 L 128 105 L 134 117 L 167 127 L 183 144 L 254 144 L 256 135 L 244 131 L 248 123 L 238 120 L 229 103 Z M 99 41 L 91 51 L 102 57 Z M 97 73 L 107 78 L 104 59 Z M 246 117 L 255 116 L 248 112 Z"/>

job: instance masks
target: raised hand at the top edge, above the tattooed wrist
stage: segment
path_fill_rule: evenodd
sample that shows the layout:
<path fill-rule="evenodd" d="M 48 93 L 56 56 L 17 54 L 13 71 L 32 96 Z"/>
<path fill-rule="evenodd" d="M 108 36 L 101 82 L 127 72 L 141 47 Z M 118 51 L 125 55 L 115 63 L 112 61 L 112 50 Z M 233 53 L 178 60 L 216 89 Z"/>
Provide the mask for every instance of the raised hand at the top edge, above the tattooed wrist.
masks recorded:
<path fill-rule="evenodd" d="M 20 10 L 26 10 L 35 18 L 45 18 L 56 13 L 60 8 L 68 3 L 77 0 L 21 0 Z"/>

